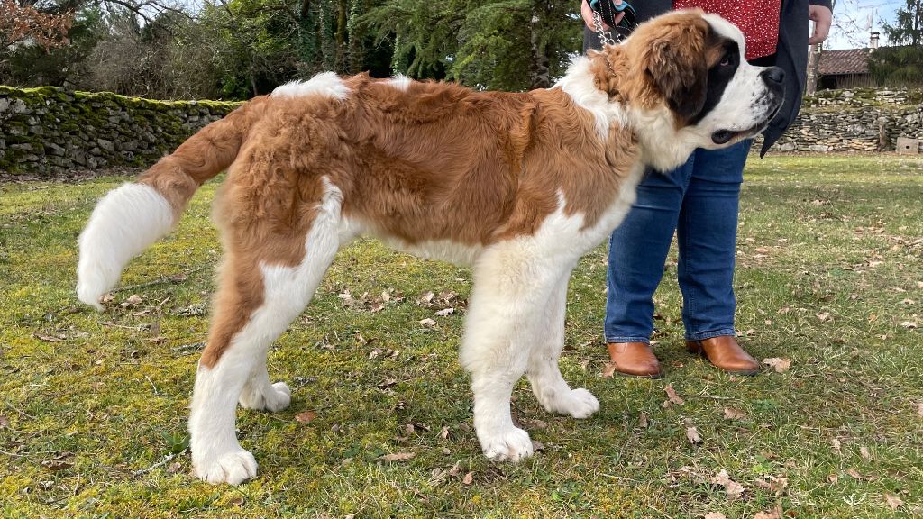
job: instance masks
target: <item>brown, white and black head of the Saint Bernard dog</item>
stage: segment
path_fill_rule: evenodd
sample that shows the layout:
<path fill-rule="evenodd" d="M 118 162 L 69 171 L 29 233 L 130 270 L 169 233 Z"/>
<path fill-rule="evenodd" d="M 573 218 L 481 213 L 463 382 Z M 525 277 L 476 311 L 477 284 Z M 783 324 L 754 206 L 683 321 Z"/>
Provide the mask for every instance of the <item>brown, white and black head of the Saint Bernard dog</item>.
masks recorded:
<path fill-rule="evenodd" d="M 590 55 L 595 88 L 621 111 L 646 163 L 662 170 L 696 148 L 718 149 L 764 130 L 784 98 L 781 69 L 750 66 L 740 30 L 700 10 L 641 24 Z"/>

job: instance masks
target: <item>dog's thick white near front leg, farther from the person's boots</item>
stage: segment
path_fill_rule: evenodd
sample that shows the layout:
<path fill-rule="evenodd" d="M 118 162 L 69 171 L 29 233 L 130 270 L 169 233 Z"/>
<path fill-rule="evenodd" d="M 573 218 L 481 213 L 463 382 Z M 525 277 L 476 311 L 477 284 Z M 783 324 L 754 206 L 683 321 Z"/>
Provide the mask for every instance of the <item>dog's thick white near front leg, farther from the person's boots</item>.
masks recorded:
<path fill-rule="evenodd" d="M 509 397 L 525 372 L 531 331 L 558 274 L 517 242 L 491 247 L 474 267 L 460 357 L 471 372 L 477 439 L 494 461 L 516 461 L 533 453 L 529 434 L 513 425 Z"/>

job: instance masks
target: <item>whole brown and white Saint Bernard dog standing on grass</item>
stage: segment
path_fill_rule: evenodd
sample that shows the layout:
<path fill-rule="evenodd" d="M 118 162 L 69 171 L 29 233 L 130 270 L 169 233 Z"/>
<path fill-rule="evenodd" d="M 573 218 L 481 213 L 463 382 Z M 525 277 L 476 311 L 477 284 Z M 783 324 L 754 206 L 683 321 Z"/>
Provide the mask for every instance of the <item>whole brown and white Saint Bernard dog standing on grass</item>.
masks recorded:
<path fill-rule="evenodd" d="M 736 27 L 687 10 L 577 58 L 548 90 L 332 73 L 282 85 L 100 200 L 79 238 L 78 296 L 102 308 L 126 263 L 226 169 L 214 211 L 224 261 L 189 417 L 198 477 L 256 476 L 235 407 L 288 406 L 267 351 L 357 235 L 473 267 L 460 358 L 474 428 L 488 458 L 519 460 L 533 453 L 509 414 L 523 373 L 549 412 L 599 409 L 557 366 L 568 279 L 629 211 L 645 168 L 753 137 L 778 112 L 782 71 L 743 54 Z"/>

